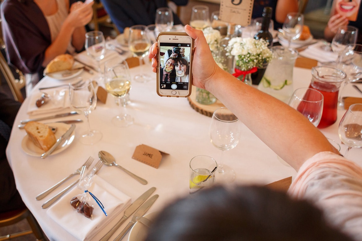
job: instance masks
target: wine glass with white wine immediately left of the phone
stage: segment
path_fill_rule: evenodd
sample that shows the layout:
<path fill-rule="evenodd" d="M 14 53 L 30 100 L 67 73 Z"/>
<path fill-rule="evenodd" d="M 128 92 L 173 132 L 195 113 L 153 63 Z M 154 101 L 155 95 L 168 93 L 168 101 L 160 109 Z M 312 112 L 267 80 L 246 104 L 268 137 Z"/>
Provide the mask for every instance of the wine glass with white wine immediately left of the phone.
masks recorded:
<path fill-rule="evenodd" d="M 145 25 L 134 25 L 130 27 L 128 46 L 133 52 L 133 55 L 138 57 L 141 73 L 135 76 L 135 81 L 147 82 L 150 76 L 143 73 L 143 58 L 148 55 L 151 47 L 150 39 L 148 38 L 148 30 Z"/>

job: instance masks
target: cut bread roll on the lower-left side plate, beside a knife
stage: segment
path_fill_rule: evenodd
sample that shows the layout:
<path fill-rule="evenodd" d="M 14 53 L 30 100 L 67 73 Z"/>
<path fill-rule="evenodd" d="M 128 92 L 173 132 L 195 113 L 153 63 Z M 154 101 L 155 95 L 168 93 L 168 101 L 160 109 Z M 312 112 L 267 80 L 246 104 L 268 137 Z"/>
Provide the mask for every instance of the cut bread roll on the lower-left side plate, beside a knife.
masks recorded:
<path fill-rule="evenodd" d="M 49 126 L 36 121 L 30 121 L 25 125 L 25 131 L 28 133 L 30 140 L 43 151 L 50 149 L 56 142 L 55 134 Z"/>

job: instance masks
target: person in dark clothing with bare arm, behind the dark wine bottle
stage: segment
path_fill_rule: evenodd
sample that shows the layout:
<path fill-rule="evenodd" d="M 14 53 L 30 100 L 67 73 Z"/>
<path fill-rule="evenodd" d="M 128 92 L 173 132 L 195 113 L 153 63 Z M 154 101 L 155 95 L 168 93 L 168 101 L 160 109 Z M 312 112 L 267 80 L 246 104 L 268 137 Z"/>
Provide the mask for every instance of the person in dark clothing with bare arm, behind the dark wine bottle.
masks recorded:
<path fill-rule="evenodd" d="M 274 29 L 283 27 L 288 13 L 298 12 L 298 0 L 254 0 L 252 18 L 262 17 L 264 7 L 272 7 Z"/>

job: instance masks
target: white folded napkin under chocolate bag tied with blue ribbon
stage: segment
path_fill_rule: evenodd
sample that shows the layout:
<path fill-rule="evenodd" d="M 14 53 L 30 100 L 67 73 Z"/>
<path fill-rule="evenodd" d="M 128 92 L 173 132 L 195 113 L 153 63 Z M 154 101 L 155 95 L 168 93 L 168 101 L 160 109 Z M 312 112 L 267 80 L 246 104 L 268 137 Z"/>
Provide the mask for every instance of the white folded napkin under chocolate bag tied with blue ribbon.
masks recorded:
<path fill-rule="evenodd" d="M 93 184 L 88 191 L 101 201 L 108 216 L 104 215 L 95 201 L 93 220 L 73 210 L 70 200 L 76 195 L 82 194 L 82 190 L 77 187 L 71 189 L 47 210 L 47 215 L 76 237 L 77 240 L 92 240 L 97 233 L 102 231 L 131 202 L 129 196 L 97 175 L 93 176 Z M 104 232 L 106 231 L 104 230 Z"/>

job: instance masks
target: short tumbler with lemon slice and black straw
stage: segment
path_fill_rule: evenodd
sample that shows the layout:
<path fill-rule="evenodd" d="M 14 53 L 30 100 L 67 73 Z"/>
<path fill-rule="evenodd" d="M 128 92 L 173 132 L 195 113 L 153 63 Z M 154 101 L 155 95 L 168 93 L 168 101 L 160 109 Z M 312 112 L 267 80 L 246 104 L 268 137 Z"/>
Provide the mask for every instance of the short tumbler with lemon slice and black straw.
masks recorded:
<path fill-rule="evenodd" d="M 215 182 L 218 164 L 214 158 L 206 155 L 195 156 L 190 161 L 190 194 Z"/>

